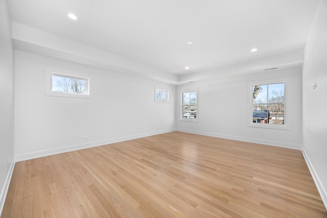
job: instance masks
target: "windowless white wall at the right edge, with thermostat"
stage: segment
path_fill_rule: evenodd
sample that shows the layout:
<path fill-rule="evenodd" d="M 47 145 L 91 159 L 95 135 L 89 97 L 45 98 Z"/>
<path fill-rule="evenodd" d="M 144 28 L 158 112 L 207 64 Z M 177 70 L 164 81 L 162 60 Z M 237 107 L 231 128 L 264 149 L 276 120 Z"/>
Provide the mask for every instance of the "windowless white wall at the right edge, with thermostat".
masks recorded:
<path fill-rule="evenodd" d="M 303 150 L 327 207 L 327 1 L 320 1 L 303 64 Z M 313 85 L 317 83 L 317 88 Z"/>

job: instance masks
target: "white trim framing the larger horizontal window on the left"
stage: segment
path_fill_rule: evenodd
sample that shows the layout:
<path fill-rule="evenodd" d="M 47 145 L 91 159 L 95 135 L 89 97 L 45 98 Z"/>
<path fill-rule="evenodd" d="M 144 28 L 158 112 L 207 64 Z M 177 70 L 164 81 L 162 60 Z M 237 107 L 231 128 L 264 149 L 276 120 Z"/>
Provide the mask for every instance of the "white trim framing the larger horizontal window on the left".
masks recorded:
<path fill-rule="evenodd" d="M 86 80 L 86 93 L 65 93 L 52 91 L 52 76 L 61 76 Z M 90 77 L 85 77 L 85 75 L 77 74 L 65 69 L 55 69 L 55 68 L 46 68 L 45 69 L 45 96 L 56 96 L 56 97 L 67 97 L 67 98 L 83 98 L 91 99 L 92 98 L 92 79 Z"/>

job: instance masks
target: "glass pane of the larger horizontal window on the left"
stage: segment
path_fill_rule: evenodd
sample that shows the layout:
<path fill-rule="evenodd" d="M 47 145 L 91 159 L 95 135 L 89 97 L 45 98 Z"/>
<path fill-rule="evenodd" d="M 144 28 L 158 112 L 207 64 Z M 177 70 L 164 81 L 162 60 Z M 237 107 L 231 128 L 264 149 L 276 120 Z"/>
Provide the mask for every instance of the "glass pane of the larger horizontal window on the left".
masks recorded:
<path fill-rule="evenodd" d="M 52 75 L 52 91 L 86 94 L 87 80 Z"/>

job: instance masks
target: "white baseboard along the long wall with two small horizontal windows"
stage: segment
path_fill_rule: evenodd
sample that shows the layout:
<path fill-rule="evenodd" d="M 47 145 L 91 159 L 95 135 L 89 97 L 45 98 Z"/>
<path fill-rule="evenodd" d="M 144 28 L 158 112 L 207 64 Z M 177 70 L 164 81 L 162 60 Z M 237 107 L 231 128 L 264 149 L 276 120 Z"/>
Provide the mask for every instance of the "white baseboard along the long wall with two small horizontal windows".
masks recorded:
<path fill-rule="evenodd" d="M 176 130 L 175 129 L 161 130 L 161 131 L 155 131 L 155 132 L 149 132 L 149 133 L 143 133 L 143 134 L 137 134 L 137 135 L 124 136 L 124 137 L 119 137 L 119 138 L 111 138 L 111 139 L 106 139 L 106 140 L 101 140 L 101 141 L 94 141 L 94 142 L 84 143 L 84 144 L 76 144 L 74 146 L 61 147 L 61 148 L 57 148 L 57 149 L 50 149 L 50 150 L 43 150 L 43 151 L 39 151 L 39 152 L 20 154 L 20 155 L 15 156 L 15 160 L 16 160 L 16 162 L 30 160 L 30 159 L 35 159 L 35 158 L 39 158 L 39 157 L 56 155 L 56 154 L 61 154 L 61 153 L 65 153 L 65 152 L 72 152 L 72 151 L 77 151 L 77 150 L 81 150 L 81 149 L 88 149 L 88 148 L 92 148 L 92 147 L 103 146 L 105 144 L 112 144 L 112 143 L 116 143 L 116 142 L 127 141 L 127 140 L 136 139 L 136 138 L 158 135 L 158 134 L 168 133 L 168 132 L 173 132 L 173 131 L 176 131 Z"/>

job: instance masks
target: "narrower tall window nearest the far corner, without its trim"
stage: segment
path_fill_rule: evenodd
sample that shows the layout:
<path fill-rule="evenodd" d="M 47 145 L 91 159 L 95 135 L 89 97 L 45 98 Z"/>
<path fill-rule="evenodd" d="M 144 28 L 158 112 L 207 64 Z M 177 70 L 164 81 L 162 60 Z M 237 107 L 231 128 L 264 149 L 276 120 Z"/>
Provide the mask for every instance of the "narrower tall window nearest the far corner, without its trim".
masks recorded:
<path fill-rule="evenodd" d="M 196 120 L 197 91 L 182 92 L 182 119 Z"/>

